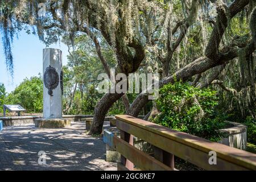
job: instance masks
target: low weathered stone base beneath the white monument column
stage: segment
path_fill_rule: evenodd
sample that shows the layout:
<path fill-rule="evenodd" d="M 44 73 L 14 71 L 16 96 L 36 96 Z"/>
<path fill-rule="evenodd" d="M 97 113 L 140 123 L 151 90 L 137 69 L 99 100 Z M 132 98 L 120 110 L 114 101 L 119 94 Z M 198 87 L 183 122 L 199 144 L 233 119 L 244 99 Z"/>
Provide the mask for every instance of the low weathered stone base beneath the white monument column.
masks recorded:
<path fill-rule="evenodd" d="M 46 129 L 57 129 L 71 126 L 71 122 L 68 119 L 35 119 L 35 127 L 46 128 Z"/>

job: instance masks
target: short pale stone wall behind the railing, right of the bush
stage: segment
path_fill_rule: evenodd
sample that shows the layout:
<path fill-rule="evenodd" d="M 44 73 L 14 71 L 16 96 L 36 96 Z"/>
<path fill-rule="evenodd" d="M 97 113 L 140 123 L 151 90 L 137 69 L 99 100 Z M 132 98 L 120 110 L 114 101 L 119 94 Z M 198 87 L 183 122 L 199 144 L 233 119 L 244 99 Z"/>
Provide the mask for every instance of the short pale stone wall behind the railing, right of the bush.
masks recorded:
<path fill-rule="evenodd" d="M 222 129 L 221 132 L 228 135 L 228 137 L 222 139 L 218 143 L 225 144 L 226 146 L 240 148 L 241 150 L 246 149 L 247 143 L 247 126 L 242 125 L 241 123 L 228 122 L 231 127 L 228 129 Z"/>

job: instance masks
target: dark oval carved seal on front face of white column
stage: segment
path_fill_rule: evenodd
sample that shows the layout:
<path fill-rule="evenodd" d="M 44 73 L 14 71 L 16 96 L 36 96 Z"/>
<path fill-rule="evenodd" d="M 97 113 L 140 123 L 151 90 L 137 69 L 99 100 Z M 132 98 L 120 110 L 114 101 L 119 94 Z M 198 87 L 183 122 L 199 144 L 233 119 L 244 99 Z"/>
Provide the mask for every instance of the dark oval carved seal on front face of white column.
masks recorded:
<path fill-rule="evenodd" d="M 59 85 L 59 75 L 56 72 L 56 69 L 51 67 L 46 68 L 46 72 L 44 72 L 44 85 L 48 89 L 48 94 L 52 95 L 52 90 L 55 89 Z"/>

